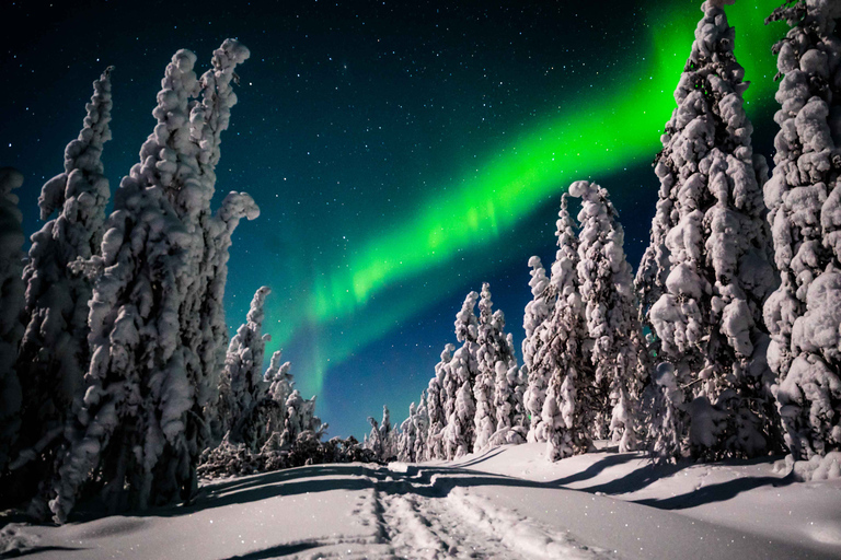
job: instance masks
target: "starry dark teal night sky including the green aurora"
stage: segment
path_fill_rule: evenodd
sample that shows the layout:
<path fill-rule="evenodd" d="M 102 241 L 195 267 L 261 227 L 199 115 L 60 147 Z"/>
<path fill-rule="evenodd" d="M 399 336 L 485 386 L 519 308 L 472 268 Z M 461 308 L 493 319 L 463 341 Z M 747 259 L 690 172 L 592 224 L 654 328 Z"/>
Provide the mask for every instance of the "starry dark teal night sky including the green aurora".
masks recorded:
<path fill-rule="evenodd" d="M 763 25 L 780 0 L 727 8 L 751 86 L 754 148 L 772 155 L 775 102 Z M 197 73 L 226 37 L 252 52 L 222 138 L 217 198 L 250 192 L 261 217 L 231 248 L 227 319 L 273 290 L 266 360 L 283 349 L 318 395 L 329 435 L 402 420 L 434 374 L 464 295 L 491 283 L 518 347 L 528 259 L 554 258 L 569 183 L 607 187 L 636 267 L 658 182 L 652 161 L 701 16 L 695 0 L 142 2 L 3 5 L 0 164 L 26 177 L 27 234 L 62 171 L 91 82 L 108 66 L 112 190 L 154 126 L 170 57 Z"/>

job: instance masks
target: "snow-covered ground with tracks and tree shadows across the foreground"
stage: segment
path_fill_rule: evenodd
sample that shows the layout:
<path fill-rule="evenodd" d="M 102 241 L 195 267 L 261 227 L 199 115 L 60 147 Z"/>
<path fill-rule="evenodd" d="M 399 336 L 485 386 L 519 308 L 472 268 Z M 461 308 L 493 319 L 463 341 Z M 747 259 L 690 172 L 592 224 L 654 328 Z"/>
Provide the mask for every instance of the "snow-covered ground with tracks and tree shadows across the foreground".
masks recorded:
<path fill-rule="evenodd" d="M 841 480 L 772 462 L 650 466 L 543 445 L 452 464 L 325 465 L 216 482 L 192 506 L 7 525 L 37 559 L 841 558 Z"/>

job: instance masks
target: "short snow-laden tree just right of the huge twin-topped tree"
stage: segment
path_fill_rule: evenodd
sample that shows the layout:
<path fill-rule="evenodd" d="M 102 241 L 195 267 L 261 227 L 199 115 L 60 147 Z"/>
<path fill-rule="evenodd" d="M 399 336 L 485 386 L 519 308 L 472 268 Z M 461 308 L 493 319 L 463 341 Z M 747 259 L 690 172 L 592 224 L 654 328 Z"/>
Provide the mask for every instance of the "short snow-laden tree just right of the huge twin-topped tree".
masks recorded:
<path fill-rule="evenodd" d="M 251 300 L 243 323 L 228 345 L 222 381 L 219 384 L 220 433 L 233 444 L 244 443 L 256 451 L 265 442 L 262 401 L 268 392 L 263 380 L 263 354 L 269 335 L 263 335 L 264 306 L 272 290 L 264 285 Z"/>

